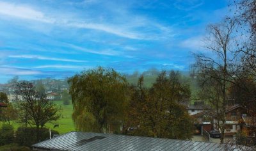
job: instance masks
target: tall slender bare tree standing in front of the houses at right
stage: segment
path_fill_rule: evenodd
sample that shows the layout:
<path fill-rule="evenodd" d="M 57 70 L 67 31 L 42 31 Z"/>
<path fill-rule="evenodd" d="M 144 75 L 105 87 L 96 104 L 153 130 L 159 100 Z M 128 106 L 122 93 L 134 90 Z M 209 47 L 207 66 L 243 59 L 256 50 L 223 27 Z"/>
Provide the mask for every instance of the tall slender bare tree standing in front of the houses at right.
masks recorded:
<path fill-rule="evenodd" d="M 234 83 L 234 73 L 237 71 L 237 56 L 232 50 L 234 26 L 232 20 L 208 26 L 205 47 L 210 52 L 208 55 L 195 54 L 196 63 L 193 65 L 202 88 L 200 97 L 214 110 L 217 120 L 214 124 L 221 132 L 221 143 L 225 138 L 225 113 L 229 103 L 227 90 L 230 83 Z"/>

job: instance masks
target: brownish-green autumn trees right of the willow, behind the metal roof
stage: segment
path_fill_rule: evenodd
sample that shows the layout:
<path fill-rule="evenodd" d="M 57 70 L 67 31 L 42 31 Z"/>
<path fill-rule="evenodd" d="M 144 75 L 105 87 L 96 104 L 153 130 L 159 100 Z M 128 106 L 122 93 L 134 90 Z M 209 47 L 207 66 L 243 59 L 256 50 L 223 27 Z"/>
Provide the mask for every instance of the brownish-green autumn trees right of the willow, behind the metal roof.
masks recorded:
<path fill-rule="evenodd" d="M 131 101 L 127 109 L 127 127 L 138 127 L 134 135 L 158 138 L 187 139 L 193 134 L 193 120 L 185 106 L 190 97 L 189 84 L 180 82 L 178 72 L 161 72 L 156 83 L 148 89 L 143 76 L 131 88 Z"/>

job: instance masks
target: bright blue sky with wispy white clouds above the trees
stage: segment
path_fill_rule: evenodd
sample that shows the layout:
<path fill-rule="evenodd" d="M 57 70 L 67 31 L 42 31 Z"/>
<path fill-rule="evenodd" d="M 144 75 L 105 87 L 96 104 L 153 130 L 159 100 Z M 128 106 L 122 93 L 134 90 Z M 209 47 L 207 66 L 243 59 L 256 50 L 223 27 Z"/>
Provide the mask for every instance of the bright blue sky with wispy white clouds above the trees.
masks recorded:
<path fill-rule="evenodd" d="M 228 0 L 0 0 L 0 83 L 97 66 L 189 70 Z"/>

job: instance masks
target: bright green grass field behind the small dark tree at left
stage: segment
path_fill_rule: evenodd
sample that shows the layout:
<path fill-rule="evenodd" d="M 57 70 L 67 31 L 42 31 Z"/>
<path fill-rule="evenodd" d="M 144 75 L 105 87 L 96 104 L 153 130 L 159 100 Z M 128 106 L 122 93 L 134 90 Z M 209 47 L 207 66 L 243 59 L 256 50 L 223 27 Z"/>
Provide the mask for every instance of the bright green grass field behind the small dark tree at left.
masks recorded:
<path fill-rule="evenodd" d="M 61 100 L 53 101 L 58 106 L 61 106 L 61 118 L 57 120 L 56 122 L 47 123 L 45 127 L 54 129 L 54 124 L 58 123 L 59 127 L 56 127 L 54 130 L 60 132 L 60 134 L 64 134 L 66 132 L 75 131 L 74 123 L 72 120 L 72 113 L 73 113 L 73 107 L 72 104 L 64 106 L 62 104 Z M 0 122 L 0 126 L 1 126 Z M 12 121 L 11 124 L 13 125 L 14 129 L 17 130 L 18 127 L 20 127 L 20 123 L 17 123 L 15 121 Z"/>

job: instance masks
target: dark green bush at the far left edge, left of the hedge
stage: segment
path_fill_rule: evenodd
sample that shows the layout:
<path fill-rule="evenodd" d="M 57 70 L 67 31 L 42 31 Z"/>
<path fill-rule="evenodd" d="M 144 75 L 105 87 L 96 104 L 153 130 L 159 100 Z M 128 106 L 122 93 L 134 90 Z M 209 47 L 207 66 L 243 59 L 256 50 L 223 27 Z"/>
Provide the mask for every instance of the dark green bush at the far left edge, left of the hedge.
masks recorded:
<path fill-rule="evenodd" d="M 9 124 L 3 124 L 0 129 L 0 146 L 13 143 L 13 134 L 13 126 Z"/>

